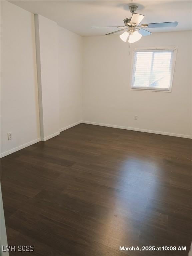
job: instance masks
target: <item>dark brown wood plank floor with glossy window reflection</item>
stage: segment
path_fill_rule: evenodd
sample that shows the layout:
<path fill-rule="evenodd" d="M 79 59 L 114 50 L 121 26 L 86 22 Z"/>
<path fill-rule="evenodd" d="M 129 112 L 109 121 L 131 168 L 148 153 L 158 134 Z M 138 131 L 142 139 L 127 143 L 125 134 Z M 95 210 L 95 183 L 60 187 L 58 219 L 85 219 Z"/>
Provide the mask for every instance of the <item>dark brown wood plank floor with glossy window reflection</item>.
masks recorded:
<path fill-rule="evenodd" d="M 8 244 L 34 246 L 10 255 L 188 255 L 190 157 L 190 139 L 79 124 L 2 158 Z"/>

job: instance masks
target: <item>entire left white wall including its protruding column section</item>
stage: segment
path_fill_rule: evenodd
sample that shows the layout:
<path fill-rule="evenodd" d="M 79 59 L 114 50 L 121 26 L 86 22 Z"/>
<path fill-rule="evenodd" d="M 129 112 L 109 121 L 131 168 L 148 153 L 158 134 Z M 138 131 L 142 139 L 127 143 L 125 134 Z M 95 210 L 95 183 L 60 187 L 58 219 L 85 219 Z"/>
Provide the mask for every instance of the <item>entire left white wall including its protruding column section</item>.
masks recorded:
<path fill-rule="evenodd" d="M 1 157 L 58 135 L 81 116 L 82 37 L 1 1 Z"/>

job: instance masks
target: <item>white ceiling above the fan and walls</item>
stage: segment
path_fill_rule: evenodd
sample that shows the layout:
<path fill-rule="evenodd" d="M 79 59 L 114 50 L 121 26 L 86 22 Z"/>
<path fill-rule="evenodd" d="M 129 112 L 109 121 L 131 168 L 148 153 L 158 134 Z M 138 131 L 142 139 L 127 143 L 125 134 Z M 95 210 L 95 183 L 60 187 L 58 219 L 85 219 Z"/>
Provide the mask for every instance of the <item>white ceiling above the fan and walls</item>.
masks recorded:
<path fill-rule="evenodd" d="M 174 28 L 153 28 L 151 32 L 191 30 L 191 1 L 9 1 L 34 14 L 41 14 L 81 36 L 104 35 L 116 28 L 91 26 L 122 26 L 131 16 L 129 5 L 137 5 L 136 13 L 145 15 L 142 23 L 177 21 Z"/>

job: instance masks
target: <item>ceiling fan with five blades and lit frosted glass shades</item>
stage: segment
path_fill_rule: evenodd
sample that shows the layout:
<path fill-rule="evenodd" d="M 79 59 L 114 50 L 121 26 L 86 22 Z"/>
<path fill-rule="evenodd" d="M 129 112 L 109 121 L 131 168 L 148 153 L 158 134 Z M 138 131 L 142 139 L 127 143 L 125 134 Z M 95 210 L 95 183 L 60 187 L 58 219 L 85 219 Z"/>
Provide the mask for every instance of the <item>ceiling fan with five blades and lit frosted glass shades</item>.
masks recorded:
<path fill-rule="evenodd" d="M 119 31 L 125 31 L 123 34 L 120 35 L 121 40 L 124 42 L 127 41 L 129 36 L 129 43 L 134 43 L 141 39 L 142 36 L 148 36 L 152 34 L 151 32 L 143 29 L 143 28 L 166 28 L 166 27 L 176 27 L 177 21 L 174 22 L 161 22 L 161 23 L 149 23 L 149 24 L 142 24 L 139 26 L 141 21 L 144 19 L 145 15 L 135 13 L 137 10 L 136 5 L 129 6 L 129 10 L 132 13 L 131 18 L 124 19 L 125 26 L 105 26 L 105 27 L 92 27 L 92 28 L 122 28 L 120 30 L 105 34 L 111 35 L 117 33 Z"/>

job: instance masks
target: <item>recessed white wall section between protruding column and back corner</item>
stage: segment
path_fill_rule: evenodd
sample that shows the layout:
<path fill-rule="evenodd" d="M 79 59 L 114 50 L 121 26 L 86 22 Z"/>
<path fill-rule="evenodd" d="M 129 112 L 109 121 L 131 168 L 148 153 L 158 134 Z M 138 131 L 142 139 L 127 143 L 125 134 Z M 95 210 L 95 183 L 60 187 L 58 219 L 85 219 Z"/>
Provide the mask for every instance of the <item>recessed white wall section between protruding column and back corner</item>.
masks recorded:
<path fill-rule="evenodd" d="M 60 130 L 81 121 L 82 37 L 58 26 Z"/>

